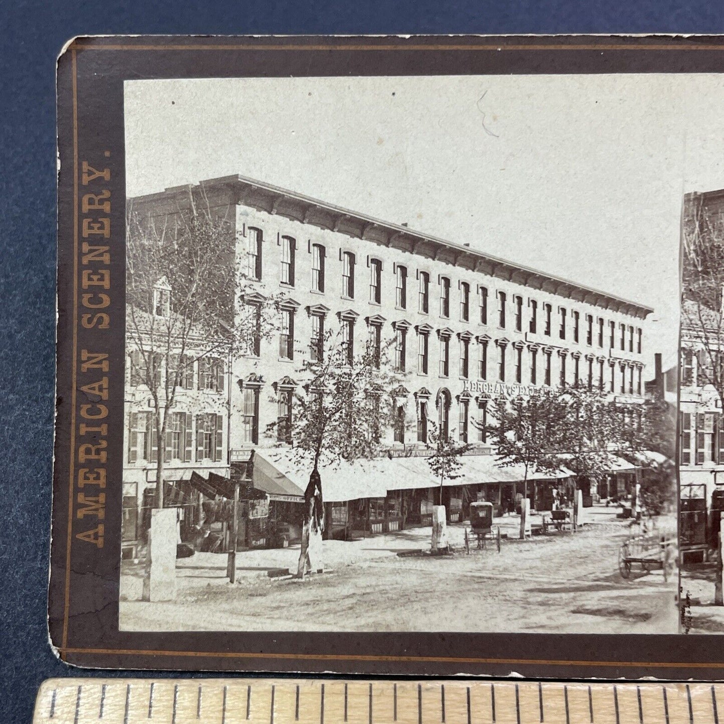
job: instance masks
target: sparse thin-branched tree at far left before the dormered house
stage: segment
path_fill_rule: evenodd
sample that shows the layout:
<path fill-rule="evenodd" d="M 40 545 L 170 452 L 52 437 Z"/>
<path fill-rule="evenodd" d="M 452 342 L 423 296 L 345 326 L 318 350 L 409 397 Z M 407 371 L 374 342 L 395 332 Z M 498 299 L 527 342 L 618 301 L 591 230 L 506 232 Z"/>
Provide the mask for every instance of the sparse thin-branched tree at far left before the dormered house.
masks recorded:
<path fill-rule="evenodd" d="M 126 228 L 127 353 L 132 382 L 150 394 L 154 505 L 162 508 L 167 434 L 179 391 L 223 392 L 234 355 L 271 334 L 274 300 L 256 294 L 253 305 L 237 304 L 247 290 L 234 229 L 208 209 L 192 203 L 157 219 L 130 208 Z"/>

